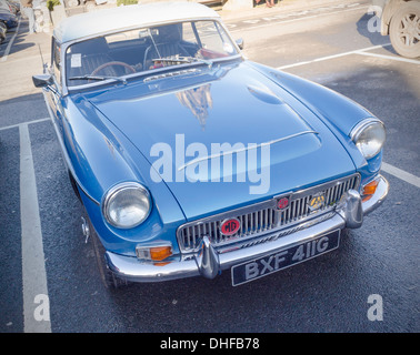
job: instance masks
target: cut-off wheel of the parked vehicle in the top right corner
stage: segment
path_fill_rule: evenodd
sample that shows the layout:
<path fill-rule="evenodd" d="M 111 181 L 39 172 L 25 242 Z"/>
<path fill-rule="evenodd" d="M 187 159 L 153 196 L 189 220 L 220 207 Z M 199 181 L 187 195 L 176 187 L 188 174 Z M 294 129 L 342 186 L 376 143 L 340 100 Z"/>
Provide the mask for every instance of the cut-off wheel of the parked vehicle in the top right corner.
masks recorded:
<path fill-rule="evenodd" d="M 402 3 L 392 16 L 389 34 L 393 49 L 407 58 L 420 57 L 420 2 Z"/>

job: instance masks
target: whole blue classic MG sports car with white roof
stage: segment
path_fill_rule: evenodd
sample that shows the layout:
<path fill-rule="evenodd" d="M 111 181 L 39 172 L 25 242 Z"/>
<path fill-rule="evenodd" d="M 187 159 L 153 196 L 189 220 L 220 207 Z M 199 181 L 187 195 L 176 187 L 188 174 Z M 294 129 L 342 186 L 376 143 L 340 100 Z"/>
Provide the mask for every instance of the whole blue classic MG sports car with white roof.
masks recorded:
<path fill-rule="evenodd" d="M 189 2 L 56 28 L 33 83 L 106 285 L 223 270 L 240 285 L 337 248 L 387 196 L 382 122 L 242 45 Z"/>

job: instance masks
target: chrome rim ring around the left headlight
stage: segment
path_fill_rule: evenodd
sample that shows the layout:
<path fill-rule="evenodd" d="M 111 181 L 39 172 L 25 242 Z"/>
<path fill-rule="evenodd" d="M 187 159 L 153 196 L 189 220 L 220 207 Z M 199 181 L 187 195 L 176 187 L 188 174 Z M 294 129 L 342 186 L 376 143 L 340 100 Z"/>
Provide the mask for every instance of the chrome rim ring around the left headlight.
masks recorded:
<path fill-rule="evenodd" d="M 131 224 L 131 225 L 121 225 L 121 224 L 118 224 L 113 221 L 113 219 L 110 216 L 109 214 L 109 207 L 110 207 L 110 204 L 111 202 L 113 201 L 113 199 L 121 192 L 123 191 L 127 191 L 127 190 L 138 190 L 139 193 L 142 193 L 146 197 L 147 197 L 147 201 L 148 201 L 148 211 L 147 213 L 144 214 L 144 216 L 139 220 L 138 222 Z M 117 227 L 117 229 L 120 229 L 120 230 L 130 230 L 130 229 L 133 229 L 133 227 L 137 227 L 139 226 L 140 224 L 142 224 L 150 215 L 150 212 L 151 212 L 151 209 L 152 209 L 152 203 L 151 203 L 151 197 L 150 197 L 150 193 L 149 191 L 140 183 L 138 182 L 122 182 L 122 183 L 119 183 L 114 186 L 112 186 L 111 189 L 109 189 L 107 191 L 107 193 L 103 195 L 103 199 L 102 199 L 102 202 L 101 202 L 101 210 L 102 210 L 102 215 L 104 217 L 104 220 L 107 221 L 107 223 L 109 223 L 110 225 Z"/>

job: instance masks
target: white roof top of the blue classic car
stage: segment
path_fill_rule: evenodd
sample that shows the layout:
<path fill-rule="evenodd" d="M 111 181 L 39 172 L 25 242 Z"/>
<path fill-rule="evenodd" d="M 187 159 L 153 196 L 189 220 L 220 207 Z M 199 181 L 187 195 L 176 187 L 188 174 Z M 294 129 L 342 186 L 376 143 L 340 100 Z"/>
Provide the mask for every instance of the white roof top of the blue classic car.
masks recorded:
<path fill-rule="evenodd" d="M 131 4 L 77 14 L 61 21 L 53 37 L 60 42 L 159 23 L 191 19 L 218 19 L 210 8 L 194 2 L 154 2 Z"/>

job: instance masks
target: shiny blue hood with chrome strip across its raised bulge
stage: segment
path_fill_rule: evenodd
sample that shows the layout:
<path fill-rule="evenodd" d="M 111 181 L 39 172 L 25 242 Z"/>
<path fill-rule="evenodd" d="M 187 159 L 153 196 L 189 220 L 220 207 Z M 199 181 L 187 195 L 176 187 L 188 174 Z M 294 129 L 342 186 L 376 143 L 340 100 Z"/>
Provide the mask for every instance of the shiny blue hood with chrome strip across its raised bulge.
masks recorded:
<path fill-rule="evenodd" d="M 139 169 L 169 186 L 187 220 L 354 172 L 327 126 L 247 62 L 116 85 L 86 98 L 149 160 Z"/>

